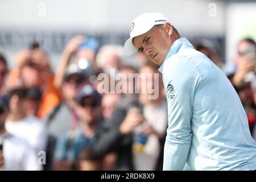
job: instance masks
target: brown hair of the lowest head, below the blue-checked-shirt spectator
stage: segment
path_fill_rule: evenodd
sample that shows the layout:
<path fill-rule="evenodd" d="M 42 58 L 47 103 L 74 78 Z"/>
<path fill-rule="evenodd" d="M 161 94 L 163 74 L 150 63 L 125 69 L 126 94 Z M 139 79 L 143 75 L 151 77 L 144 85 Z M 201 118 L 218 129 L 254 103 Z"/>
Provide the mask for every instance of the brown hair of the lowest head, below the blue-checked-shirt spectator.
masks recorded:
<path fill-rule="evenodd" d="M 102 162 L 103 156 L 98 154 L 93 148 L 85 148 L 79 153 L 79 160 L 90 160 L 94 162 Z"/>

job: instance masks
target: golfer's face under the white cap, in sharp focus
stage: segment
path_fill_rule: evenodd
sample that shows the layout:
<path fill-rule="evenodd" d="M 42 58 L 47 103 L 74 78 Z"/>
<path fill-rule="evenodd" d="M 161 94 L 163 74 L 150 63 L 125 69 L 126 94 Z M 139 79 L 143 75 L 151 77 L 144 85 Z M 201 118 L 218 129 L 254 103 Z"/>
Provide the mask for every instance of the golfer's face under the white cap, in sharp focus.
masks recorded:
<path fill-rule="evenodd" d="M 172 45 L 169 32 L 172 33 L 166 24 L 154 26 L 145 34 L 136 36 L 133 39 L 134 46 L 153 63 L 161 65 Z"/>

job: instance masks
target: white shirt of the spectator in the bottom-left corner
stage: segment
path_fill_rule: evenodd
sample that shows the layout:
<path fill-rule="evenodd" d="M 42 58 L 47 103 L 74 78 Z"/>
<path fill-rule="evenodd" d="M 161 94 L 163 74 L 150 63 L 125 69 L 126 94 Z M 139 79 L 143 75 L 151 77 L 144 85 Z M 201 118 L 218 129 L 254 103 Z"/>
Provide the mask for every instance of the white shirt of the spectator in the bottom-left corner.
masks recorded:
<path fill-rule="evenodd" d="M 38 171 L 42 166 L 38 164 L 38 157 L 34 149 L 26 140 L 15 137 L 10 133 L 0 136 L 3 142 L 3 158 L 5 164 L 0 171 Z"/>

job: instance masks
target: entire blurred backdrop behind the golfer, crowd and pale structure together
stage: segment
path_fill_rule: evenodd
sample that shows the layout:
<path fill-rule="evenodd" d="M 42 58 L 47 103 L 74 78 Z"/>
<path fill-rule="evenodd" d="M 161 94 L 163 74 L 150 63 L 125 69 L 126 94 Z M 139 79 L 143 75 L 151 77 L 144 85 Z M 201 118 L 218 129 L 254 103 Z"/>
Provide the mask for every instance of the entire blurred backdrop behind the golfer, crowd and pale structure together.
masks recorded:
<path fill-rule="evenodd" d="M 162 76 L 123 52 L 146 12 L 165 14 L 225 73 L 256 140 L 256 1 L 0 0 L 0 170 L 162 170 Z"/>

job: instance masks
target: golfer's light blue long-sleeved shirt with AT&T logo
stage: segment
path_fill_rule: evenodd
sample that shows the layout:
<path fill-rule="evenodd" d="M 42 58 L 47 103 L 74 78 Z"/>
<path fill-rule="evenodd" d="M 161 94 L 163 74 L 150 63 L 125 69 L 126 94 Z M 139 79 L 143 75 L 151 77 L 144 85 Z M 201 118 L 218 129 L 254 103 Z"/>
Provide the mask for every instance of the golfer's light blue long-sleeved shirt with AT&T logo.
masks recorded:
<path fill-rule="evenodd" d="M 159 68 L 168 102 L 164 170 L 255 170 L 256 142 L 224 73 L 185 38 Z"/>

